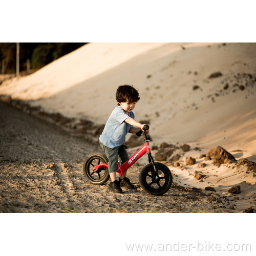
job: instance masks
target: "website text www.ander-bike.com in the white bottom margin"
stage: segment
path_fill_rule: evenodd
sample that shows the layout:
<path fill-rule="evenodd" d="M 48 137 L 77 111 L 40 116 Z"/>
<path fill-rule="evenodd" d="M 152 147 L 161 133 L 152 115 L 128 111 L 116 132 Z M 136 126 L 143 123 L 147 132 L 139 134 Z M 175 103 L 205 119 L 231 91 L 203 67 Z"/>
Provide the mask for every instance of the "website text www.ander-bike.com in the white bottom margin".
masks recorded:
<path fill-rule="evenodd" d="M 251 251 L 251 244 L 219 244 L 206 242 L 173 244 L 126 244 L 127 251 Z"/>

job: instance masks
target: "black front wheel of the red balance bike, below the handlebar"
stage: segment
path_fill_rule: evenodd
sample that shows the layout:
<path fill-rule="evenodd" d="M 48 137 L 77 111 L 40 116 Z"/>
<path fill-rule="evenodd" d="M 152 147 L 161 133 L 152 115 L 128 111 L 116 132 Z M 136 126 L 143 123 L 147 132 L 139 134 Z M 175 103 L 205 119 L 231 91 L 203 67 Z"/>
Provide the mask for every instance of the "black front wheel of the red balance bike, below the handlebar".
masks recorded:
<path fill-rule="evenodd" d="M 157 173 L 152 176 L 153 164 L 149 163 L 140 171 L 139 184 L 147 193 L 160 196 L 166 193 L 173 183 L 173 176 L 169 168 L 159 162 L 155 163 Z"/>

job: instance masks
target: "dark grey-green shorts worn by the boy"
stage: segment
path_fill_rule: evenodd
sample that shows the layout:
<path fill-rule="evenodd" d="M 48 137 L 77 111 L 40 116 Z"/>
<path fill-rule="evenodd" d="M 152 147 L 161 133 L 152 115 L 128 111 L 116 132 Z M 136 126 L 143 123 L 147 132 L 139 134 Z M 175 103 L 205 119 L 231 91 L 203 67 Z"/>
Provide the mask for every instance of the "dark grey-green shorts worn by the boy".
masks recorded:
<path fill-rule="evenodd" d="M 107 147 L 99 141 L 99 144 L 106 154 L 106 157 L 108 157 L 109 162 L 109 173 L 114 173 L 118 170 L 117 161 L 119 161 L 119 164 L 122 165 L 124 162 L 126 162 L 129 159 L 129 156 L 127 154 L 127 151 L 121 146 L 117 146 L 114 148 Z"/>

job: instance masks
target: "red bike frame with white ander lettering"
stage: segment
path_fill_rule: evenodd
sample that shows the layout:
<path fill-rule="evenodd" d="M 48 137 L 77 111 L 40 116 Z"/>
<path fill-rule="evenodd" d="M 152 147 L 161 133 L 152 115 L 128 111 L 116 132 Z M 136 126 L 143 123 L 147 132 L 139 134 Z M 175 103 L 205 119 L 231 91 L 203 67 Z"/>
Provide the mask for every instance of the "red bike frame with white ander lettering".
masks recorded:
<path fill-rule="evenodd" d="M 150 143 L 148 143 L 148 140 L 145 140 L 145 144 L 132 156 L 130 157 L 125 163 L 123 163 L 121 166 L 118 164 L 118 170 L 117 173 L 119 174 L 119 177 L 126 172 L 127 169 L 129 169 L 134 163 L 136 163 L 144 154 L 148 154 L 148 156 L 151 156 L 151 150 L 150 150 Z M 151 161 L 154 161 L 153 159 Z M 93 168 L 94 172 L 97 172 L 99 168 L 108 168 L 108 164 L 101 163 Z"/>

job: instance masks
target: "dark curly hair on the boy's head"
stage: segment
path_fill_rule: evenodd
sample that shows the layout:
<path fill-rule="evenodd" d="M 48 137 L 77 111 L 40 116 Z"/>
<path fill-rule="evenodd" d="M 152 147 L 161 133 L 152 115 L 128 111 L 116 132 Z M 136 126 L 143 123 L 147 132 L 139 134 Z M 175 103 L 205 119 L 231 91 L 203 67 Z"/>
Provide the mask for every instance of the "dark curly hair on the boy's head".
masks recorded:
<path fill-rule="evenodd" d="M 126 102 L 126 100 L 129 102 L 137 102 L 139 99 L 138 91 L 127 84 L 119 86 L 116 90 L 117 105 L 120 105 L 118 102 Z"/>

